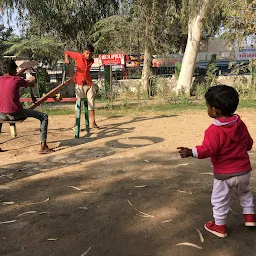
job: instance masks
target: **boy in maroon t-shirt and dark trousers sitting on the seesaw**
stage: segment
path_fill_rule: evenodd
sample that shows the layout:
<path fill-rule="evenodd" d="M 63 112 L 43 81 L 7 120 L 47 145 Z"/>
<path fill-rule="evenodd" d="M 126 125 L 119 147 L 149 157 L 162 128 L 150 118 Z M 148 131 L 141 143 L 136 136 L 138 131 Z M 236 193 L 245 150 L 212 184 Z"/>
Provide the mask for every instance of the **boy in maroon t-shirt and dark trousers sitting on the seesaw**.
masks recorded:
<path fill-rule="evenodd" d="M 23 109 L 20 104 L 19 90 L 21 87 L 34 86 L 35 78 L 28 81 L 17 76 L 17 65 L 12 59 L 3 62 L 3 73 L 0 77 L 0 119 L 19 120 L 33 117 L 40 120 L 40 154 L 53 152 L 47 145 L 48 115 L 32 109 Z M 1 149 L 0 149 L 1 151 Z"/>

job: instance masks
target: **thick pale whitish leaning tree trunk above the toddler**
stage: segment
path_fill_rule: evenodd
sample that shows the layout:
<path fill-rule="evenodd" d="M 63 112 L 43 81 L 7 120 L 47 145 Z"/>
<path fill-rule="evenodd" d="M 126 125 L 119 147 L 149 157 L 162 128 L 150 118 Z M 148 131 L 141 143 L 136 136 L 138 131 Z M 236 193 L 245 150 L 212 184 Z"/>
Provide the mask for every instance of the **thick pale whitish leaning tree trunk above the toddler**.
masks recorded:
<path fill-rule="evenodd" d="M 185 93 L 190 96 L 193 73 L 203 30 L 202 19 L 205 15 L 208 3 L 209 1 L 205 0 L 199 14 L 189 19 L 187 46 L 182 61 L 178 84 L 176 87 L 177 93 Z"/>

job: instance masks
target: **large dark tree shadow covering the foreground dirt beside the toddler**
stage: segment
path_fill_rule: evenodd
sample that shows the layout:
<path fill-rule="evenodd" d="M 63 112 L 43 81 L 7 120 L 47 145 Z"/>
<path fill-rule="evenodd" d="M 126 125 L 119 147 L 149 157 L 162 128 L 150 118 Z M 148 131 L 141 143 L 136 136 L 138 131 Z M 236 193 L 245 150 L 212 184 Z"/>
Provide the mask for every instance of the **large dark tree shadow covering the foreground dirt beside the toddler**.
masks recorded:
<path fill-rule="evenodd" d="M 6 181 L 1 200 L 16 204 L 1 207 L 0 217 L 17 222 L 0 225 L 0 254 L 70 256 L 91 247 L 92 256 L 254 255 L 255 230 L 243 227 L 237 203 L 227 239 L 203 228 L 212 218 L 212 176 L 202 174 L 211 172 L 209 161 L 170 154 L 134 152 Z M 17 217 L 27 211 L 36 213 Z M 202 249 L 177 246 L 182 242 Z"/>

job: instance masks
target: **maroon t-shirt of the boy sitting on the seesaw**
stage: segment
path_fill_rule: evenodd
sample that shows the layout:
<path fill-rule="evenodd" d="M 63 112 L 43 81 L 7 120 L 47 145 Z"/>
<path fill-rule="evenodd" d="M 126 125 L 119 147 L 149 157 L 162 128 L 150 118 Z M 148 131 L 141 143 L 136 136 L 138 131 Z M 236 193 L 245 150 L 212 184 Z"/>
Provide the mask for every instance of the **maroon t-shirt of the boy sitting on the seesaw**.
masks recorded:
<path fill-rule="evenodd" d="M 28 82 L 19 76 L 0 77 L 0 112 L 4 114 L 18 113 L 20 104 L 20 87 L 28 87 Z"/>

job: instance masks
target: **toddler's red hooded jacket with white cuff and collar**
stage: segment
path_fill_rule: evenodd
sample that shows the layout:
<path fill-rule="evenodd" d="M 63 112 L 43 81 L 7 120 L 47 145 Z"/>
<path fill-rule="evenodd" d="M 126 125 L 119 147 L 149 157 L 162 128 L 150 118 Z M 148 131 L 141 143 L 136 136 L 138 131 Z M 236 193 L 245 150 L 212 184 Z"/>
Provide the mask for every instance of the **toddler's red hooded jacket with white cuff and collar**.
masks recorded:
<path fill-rule="evenodd" d="M 205 131 L 201 146 L 192 149 L 199 159 L 211 157 L 214 174 L 233 174 L 251 170 L 247 151 L 253 140 L 238 115 L 228 119 L 216 118 Z"/>

